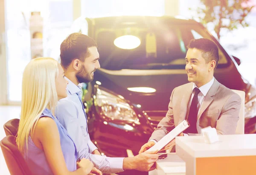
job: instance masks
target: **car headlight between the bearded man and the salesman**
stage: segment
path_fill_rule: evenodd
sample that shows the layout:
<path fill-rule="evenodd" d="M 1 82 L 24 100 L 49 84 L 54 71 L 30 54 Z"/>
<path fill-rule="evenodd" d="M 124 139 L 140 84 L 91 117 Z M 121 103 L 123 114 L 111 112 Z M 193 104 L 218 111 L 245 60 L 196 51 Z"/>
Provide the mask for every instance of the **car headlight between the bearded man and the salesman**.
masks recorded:
<path fill-rule="evenodd" d="M 112 120 L 139 121 L 132 107 L 125 102 L 122 96 L 97 88 L 94 104 L 101 115 Z"/>

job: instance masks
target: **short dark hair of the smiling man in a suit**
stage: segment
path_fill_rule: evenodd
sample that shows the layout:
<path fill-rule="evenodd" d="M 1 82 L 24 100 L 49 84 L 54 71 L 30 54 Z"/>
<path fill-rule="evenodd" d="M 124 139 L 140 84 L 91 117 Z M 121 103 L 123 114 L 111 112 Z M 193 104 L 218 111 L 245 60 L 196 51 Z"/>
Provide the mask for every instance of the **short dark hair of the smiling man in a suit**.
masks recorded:
<path fill-rule="evenodd" d="M 187 48 L 196 48 L 202 51 L 202 57 L 205 59 L 206 63 L 209 63 L 212 60 L 216 61 L 215 69 L 218 65 L 219 55 L 218 47 L 215 42 L 208 40 L 206 38 L 193 39 L 189 42 Z"/>

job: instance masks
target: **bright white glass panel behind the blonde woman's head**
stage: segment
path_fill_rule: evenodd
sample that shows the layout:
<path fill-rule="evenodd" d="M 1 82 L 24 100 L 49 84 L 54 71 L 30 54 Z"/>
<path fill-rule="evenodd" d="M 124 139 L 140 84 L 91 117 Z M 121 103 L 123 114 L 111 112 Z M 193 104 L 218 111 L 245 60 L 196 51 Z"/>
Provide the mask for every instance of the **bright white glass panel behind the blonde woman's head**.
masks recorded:
<path fill-rule="evenodd" d="M 73 0 L 6 0 L 9 101 L 21 100 L 23 70 L 32 57 L 30 43 L 32 11 L 40 11 L 44 20 L 43 56 L 58 59 L 60 44 L 70 33 L 73 22 Z"/>

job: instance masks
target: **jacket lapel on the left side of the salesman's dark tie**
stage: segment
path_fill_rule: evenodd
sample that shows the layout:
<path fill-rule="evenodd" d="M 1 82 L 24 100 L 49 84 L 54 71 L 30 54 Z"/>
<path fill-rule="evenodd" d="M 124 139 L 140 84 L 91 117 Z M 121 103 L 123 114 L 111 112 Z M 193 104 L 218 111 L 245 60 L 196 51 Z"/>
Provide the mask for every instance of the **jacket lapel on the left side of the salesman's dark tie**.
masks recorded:
<path fill-rule="evenodd" d="M 183 120 L 186 119 L 189 100 L 190 100 L 191 95 L 192 95 L 192 87 L 193 87 L 193 84 L 190 83 L 188 88 L 184 89 L 184 91 L 183 91 L 183 96 L 182 96 L 182 99 L 181 99 L 181 102 L 180 102 L 179 123 L 181 123 Z"/>

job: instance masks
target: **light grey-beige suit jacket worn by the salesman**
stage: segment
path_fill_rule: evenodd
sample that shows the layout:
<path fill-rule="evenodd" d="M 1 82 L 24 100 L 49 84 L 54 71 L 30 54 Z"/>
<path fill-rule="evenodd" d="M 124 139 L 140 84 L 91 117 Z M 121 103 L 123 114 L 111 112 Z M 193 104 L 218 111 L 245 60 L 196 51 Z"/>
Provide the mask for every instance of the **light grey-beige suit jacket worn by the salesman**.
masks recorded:
<path fill-rule="evenodd" d="M 159 141 L 180 122 L 187 119 L 192 87 L 193 83 L 188 83 L 172 91 L 168 112 L 149 140 Z M 215 79 L 198 113 L 198 133 L 201 133 L 202 128 L 211 126 L 216 128 L 218 134 L 235 134 L 240 107 L 240 96 Z"/>

